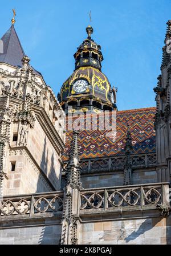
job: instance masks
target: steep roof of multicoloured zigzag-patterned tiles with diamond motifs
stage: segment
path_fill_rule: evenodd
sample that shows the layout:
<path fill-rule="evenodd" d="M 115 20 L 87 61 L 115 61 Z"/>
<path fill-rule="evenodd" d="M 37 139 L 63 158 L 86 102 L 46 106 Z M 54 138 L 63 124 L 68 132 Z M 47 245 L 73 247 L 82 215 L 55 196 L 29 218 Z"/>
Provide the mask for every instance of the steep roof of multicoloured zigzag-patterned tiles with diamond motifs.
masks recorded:
<path fill-rule="evenodd" d="M 150 153 L 156 151 L 154 114 L 156 107 L 117 111 L 116 136 L 107 137 L 106 130 L 82 130 L 79 134 L 80 158 L 109 157 L 124 154 L 127 123 L 129 123 L 133 153 Z M 70 118 L 70 117 L 69 117 Z M 92 122 L 92 121 L 91 121 Z M 72 131 L 66 133 L 66 149 L 63 160 L 70 152 Z"/>

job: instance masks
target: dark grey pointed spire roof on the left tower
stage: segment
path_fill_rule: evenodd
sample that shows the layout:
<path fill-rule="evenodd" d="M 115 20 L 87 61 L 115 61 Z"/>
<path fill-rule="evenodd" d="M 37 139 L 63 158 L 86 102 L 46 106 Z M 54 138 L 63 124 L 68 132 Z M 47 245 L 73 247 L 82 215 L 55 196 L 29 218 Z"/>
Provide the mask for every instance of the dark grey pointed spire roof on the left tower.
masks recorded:
<path fill-rule="evenodd" d="M 22 58 L 26 55 L 18 35 L 15 31 L 14 25 L 1 38 L 3 42 L 3 53 L 0 51 L 0 62 L 7 63 L 11 66 L 22 67 Z M 42 75 L 34 69 L 34 73 Z"/>

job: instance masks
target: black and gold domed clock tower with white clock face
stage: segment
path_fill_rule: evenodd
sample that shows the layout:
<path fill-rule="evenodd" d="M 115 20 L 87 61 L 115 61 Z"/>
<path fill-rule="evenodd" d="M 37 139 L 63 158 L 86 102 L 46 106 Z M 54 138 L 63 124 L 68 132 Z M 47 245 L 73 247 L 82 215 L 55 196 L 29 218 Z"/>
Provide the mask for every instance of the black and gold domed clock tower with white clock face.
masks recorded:
<path fill-rule="evenodd" d="M 100 45 L 91 38 L 93 28 L 86 28 L 88 37 L 74 54 L 74 73 L 63 83 L 58 99 L 68 113 L 100 113 L 116 110 L 116 90 L 101 72 L 103 55 Z"/>

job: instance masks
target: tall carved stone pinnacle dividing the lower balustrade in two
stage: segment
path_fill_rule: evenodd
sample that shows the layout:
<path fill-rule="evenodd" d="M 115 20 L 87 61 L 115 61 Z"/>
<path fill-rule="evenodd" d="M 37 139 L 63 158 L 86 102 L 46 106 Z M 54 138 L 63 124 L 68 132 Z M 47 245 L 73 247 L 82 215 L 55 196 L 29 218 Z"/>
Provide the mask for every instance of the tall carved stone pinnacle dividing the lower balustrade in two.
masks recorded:
<path fill-rule="evenodd" d="M 80 164 L 78 152 L 78 132 L 73 132 L 70 158 L 64 167 L 66 171 L 66 186 L 64 188 L 64 207 L 62 219 L 62 235 L 60 244 L 76 245 L 78 243 L 78 221 L 74 214 L 74 208 L 78 207 L 78 191 L 82 183 L 80 179 Z"/>

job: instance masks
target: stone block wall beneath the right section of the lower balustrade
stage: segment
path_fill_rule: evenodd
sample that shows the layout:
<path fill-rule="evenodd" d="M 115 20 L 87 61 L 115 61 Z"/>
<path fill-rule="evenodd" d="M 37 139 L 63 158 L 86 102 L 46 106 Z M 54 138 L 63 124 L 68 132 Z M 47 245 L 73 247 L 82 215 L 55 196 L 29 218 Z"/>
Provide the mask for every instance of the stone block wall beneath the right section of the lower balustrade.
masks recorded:
<path fill-rule="evenodd" d="M 171 244 L 171 217 L 87 222 L 80 227 L 83 245 Z"/>

